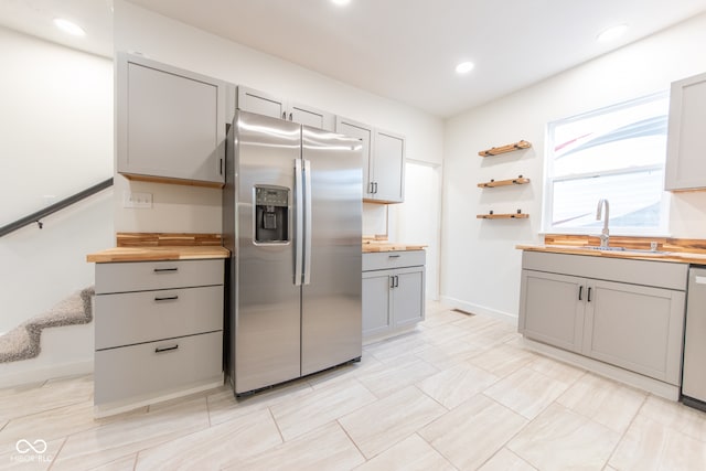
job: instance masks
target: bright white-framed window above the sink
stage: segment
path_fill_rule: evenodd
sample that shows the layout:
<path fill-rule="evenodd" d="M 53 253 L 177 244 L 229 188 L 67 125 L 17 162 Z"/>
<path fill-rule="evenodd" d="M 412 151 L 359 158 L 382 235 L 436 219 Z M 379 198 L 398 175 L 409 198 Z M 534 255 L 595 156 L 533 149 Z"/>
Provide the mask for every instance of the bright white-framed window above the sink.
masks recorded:
<path fill-rule="evenodd" d="M 599 233 L 607 199 L 611 234 L 666 234 L 668 107 L 665 92 L 548 124 L 545 232 Z"/>

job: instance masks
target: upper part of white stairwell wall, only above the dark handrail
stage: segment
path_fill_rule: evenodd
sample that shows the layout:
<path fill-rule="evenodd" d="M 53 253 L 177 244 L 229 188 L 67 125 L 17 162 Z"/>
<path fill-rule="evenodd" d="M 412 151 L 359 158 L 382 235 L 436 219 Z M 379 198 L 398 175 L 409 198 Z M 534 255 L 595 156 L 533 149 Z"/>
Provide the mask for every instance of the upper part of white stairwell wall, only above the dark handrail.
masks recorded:
<path fill-rule="evenodd" d="M 113 175 L 113 62 L 4 28 L 0 56 L 4 225 Z"/>

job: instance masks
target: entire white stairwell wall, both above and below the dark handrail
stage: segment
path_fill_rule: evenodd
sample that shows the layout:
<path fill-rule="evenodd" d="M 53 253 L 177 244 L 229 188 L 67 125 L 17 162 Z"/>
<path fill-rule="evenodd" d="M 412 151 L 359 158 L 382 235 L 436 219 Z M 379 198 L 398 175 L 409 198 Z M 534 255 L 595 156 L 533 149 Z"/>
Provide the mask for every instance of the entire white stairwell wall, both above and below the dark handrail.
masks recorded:
<path fill-rule="evenodd" d="M 113 62 L 4 28 L 0 56 L 2 226 L 113 175 Z M 105 191 L 0 238 L 0 332 L 93 285 L 111 206 Z"/>

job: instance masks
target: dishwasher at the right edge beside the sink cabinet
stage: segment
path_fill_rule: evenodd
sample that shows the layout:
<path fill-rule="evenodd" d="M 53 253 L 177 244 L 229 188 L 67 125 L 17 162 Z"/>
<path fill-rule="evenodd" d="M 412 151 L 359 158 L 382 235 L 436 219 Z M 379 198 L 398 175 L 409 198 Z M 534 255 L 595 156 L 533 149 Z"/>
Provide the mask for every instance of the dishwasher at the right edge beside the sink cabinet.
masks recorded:
<path fill-rule="evenodd" d="M 688 270 L 682 403 L 706 410 L 706 267 Z"/>

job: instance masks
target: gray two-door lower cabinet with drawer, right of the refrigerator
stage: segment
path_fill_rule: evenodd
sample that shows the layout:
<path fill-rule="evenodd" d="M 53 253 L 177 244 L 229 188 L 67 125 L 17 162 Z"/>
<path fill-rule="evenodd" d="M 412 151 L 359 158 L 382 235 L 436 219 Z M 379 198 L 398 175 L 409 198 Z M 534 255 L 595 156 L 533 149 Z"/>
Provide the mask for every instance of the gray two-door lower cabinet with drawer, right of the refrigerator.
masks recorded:
<path fill-rule="evenodd" d="M 363 254 L 363 340 L 425 319 L 425 251 Z"/>

